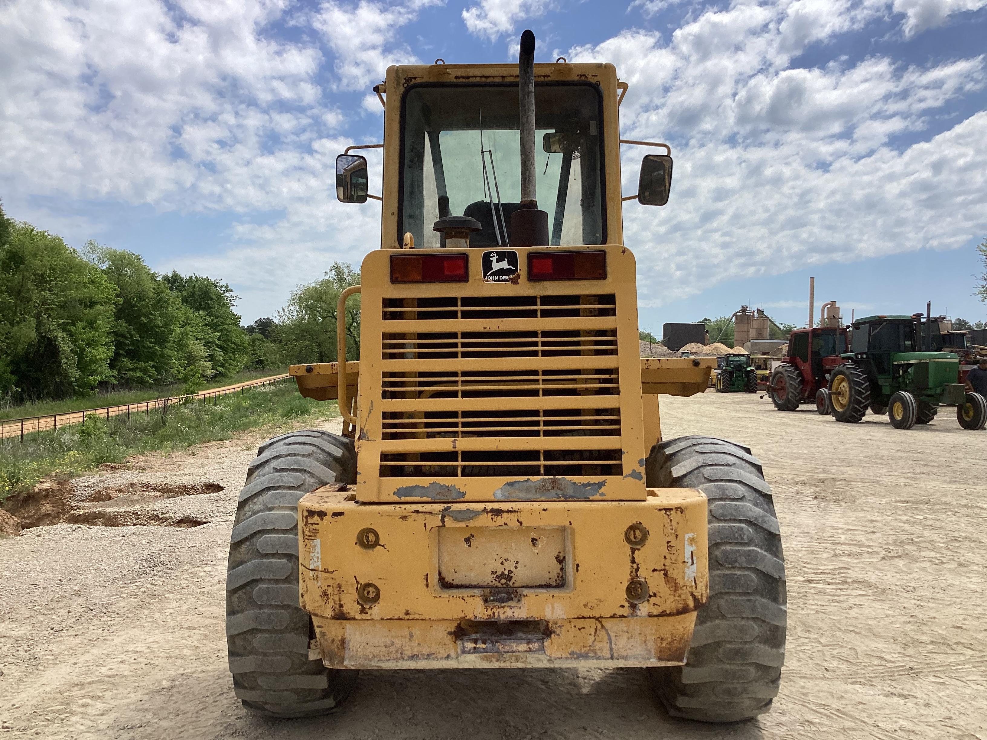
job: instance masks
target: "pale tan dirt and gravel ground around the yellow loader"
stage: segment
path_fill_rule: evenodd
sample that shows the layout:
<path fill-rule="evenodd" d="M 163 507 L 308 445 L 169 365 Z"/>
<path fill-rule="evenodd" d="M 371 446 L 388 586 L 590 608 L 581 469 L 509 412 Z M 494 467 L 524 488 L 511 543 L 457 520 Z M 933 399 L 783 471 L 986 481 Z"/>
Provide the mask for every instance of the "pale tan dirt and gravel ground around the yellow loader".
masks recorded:
<path fill-rule="evenodd" d="M 898 431 L 743 394 L 661 410 L 666 438 L 749 445 L 774 487 L 790 620 L 769 714 L 671 719 L 641 671 L 598 669 L 368 671 L 334 715 L 249 714 L 226 667 L 223 583 L 254 436 L 75 481 L 66 516 L 115 526 L 0 540 L 0 738 L 987 740 L 987 432 L 949 409 Z"/>

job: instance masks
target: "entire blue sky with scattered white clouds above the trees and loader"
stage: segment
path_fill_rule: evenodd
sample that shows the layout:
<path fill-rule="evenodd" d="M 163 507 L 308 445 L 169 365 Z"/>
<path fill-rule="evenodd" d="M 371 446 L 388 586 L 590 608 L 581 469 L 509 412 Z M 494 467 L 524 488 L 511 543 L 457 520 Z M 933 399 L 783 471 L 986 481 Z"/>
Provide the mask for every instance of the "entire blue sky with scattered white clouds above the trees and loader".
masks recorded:
<path fill-rule="evenodd" d="M 623 134 L 673 147 L 668 205 L 625 206 L 643 328 L 802 324 L 809 275 L 847 318 L 987 318 L 987 0 L 8 0 L 0 199 L 227 280 L 249 323 L 379 243 L 333 163 L 380 140 L 387 65 L 515 60 L 525 28 L 539 61 L 616 64 Z"/>

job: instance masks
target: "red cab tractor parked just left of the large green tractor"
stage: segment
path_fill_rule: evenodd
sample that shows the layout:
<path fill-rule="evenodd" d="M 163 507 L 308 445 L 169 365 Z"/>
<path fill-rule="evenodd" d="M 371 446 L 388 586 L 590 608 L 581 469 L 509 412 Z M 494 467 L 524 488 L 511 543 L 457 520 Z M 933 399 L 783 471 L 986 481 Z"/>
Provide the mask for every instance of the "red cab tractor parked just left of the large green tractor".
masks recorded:
<path fill-rule="evenodd" d="M 788 354 L 771 373 L 768 396 L 780 411 L 794 411 L 799 404 L 815 403 L 819 413 L 829 413 L 829 374 L 845 362 L 846 327 L 797 329 L 789 336 Z"/>

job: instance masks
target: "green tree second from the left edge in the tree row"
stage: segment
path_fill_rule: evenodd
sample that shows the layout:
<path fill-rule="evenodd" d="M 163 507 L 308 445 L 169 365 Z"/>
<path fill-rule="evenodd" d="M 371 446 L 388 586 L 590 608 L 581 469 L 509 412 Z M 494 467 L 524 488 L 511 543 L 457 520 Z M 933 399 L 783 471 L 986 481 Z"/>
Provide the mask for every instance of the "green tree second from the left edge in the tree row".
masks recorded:
<path fill-rule="evenodd" d="M 114 382 L 147 386 L 180 377 L 186 368 L 179 330 L 186 317 L 178 296 L 132 252 L 88 242 L 86 253 L 116 289 Z"/>

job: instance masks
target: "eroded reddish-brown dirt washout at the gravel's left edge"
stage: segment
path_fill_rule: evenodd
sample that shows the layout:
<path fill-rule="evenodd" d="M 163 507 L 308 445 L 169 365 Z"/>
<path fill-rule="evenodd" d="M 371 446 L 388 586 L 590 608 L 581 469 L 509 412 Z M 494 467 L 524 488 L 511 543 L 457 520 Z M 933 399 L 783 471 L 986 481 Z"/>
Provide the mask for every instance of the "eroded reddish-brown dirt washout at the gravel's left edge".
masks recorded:
<path fill-rule="evenodd" d="M 149 510 L 154 499 L 218 493 L 214 482 L 172 483 L 132 481 L 117 485 L 82 486 L 72 481 L 41 481 L 32 490 L 16 493 L 3 503 L 0 533 L 53 524 L 103 527 L 198 527 L 208 520 Z M 8 529 L 11 532 L 8 532 Z"/>

